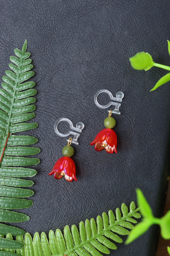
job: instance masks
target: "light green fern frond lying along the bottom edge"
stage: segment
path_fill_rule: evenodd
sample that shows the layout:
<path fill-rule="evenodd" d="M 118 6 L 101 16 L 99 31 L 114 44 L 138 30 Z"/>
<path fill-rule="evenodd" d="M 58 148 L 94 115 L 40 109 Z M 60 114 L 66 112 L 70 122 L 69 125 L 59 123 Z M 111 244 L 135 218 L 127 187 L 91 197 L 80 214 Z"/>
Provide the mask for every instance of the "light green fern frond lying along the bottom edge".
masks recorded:
<path fill-rule="evenodd" d="M 122 243 L 120 235 L 128 235 L 133 229 L 133 224 L 140 218 L 135 203 L 131 202 L 130 211 L 122 204 L 121 211 L 116 209 L 116 216 L 110 210 L 108 214 L 103 212 L 102 217 L 82 221 L 79 230 L 72 225 L 71 230 L 65 226 L 63 233 L 57 229 L 55 234 L 50 230 L 48 238 L 44 232 L 35 233 L 33 239 L 29 233 L 25 236 L 17 236 L 16 241 L 25 243 L 25 247 L 16 248 L 16 253 L 21 256 L 102 256 L 109 254 L 110 250 L 117 249 L 117 244 Z M 136 216 L 136 217 L 134 217 Z M 18 246 L 18 245 L 17 245 Z M 14 249 L 14 247 L 12 248 Z M 8 255 L 8 256 L 12 256 Z"/>

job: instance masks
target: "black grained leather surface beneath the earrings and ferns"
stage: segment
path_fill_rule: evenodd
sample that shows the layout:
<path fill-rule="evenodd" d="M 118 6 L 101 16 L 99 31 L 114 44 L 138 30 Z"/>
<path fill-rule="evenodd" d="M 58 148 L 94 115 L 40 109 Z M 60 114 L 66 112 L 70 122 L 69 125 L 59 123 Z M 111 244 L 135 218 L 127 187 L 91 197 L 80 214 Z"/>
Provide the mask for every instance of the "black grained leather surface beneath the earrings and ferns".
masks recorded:
<path fill-rule="evenodd" d="M 8 69 L 13 49 L 25 39 L 34 64 L 37 102 L 35 130 L 41 163 L 36 167 L 34 206 L 24 209 L 30 221 L 18 224 L 26 231 L 63 230 L 86 218 L 96 218 L 121 203 L 136 201 L 144 192 L 156 216 L 161 216 L 167 189 L 170 83 L 150 89 L 165 70 L 137 71 L 129 58 L 145 51 L 155 62 L 170 65 L 168 0 L 0 0 L 0 76 Z M 96 152 L 90 142 L 104 128 L 106 110 L 96 107 L 94 94 L 107 89 L 125 98 L 115 115 L 117 154 Z M 102 103 L 108 98 L 102 98 Z M 85 128 L 75 145 L 77 182 L 48 176 L 66 145 L 54 133 L 54 122 L 71 119 Z M 125 240 L 125 239 L 124 239 Z M 158 228 L 132 244 L 118 244 L 111 256 L 153 256 Z"/>

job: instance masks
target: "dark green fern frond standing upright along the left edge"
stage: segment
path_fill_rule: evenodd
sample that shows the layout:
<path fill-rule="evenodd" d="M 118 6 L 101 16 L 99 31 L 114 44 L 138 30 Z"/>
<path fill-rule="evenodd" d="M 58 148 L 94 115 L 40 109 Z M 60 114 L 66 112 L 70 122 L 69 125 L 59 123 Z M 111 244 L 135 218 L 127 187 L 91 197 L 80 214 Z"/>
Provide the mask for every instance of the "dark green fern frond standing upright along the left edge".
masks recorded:
<path fill-rule="evenodd" d="M 40 149 L 28 146 L 37 142 L 35 137 L 13 135 L 38 126 L 37 123 L 27 122 L 35 116 L 32 111 L 35 110 L 33 103 L 36 99 L 33 96 L 37 90 L 32 88 L 35 85 L 33 81 L 27 81 L 34 76 L 34 72 L 31 71 L 33 65 L 29 58 L 30 53 L 26 52 L 26 49 L 27 41 L 21 51 L 14 50 L 16 56 L 10 57 L 12 63 L 9 64 L 12 71 L 6 71 L 0 89 L 0 222 L 27 221 L 27 215 L 11 209 L 28 208 L 33 204 L 31 200 L 23 198 L 30 197 L 34 192 L 23 187 L 31 187 L 34 183 L 22 177 L 32 177 L 37 172 L 21 166 L 37 165 L 38 158 L 25 156 L 38 154 Z M 9 248 L 4 251 L 4 255 L 14 253 L 15 245 L 20 245 L 15 249 L 23 246 L 20 241 L 13 241 L 8 233 L 16 236 L 25 234 L 25 231 L 0 224 L 0 234 L 6 235 L 6 239 L 1 238 L 0 247 Z M 6 247 L 6 244 L 9 244 L 9 247 Z"/>

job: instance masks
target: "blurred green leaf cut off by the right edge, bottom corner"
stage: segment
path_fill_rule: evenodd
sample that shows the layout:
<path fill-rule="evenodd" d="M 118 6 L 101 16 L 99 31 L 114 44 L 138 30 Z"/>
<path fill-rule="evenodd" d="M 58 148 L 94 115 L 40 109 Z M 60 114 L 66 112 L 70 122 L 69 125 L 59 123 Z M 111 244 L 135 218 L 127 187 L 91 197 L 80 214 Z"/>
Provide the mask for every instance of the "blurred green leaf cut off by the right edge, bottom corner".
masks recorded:
<path fill-rule="evenodd" d="M 161 236 L 170 239 L 170 210 L 160 219 Z"/>

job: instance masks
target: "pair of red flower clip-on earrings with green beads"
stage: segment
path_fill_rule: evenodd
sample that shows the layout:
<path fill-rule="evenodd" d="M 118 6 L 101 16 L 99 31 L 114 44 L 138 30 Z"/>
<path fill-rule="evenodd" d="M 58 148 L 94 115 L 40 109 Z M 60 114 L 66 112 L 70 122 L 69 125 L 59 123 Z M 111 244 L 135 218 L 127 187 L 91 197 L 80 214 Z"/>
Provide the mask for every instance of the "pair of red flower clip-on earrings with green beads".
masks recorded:
<path fill-rule="evenodd" d="M 100 105 L 99 102 L 97 101 L 97 97 L 99 96 L 100 93 L 107 93 L 110 96 L 110 99 L 116 102 L 109 102 L 107 105 Z M 108 153 L 111 153 L 111 154 L 113 154 L 113 152 L 117 153 L 117 150 L 116 150 L 117 137 L 116 137 L 116 133 L 112 130 L 112 128 L 116 125 L 116 121 L 113 117 L 111 117 L 111 114 L 112 113 L 120 114 L 119 107 L 121 104 L 117 102 L 122 102 L 123 97 L 124 97 L 124 93 L 122 92 L 116 93 L 116 97 L 113 97 L 112 93 L 105 89 L 99 90 L 95 94 L 94 102 L 97 107 L 104 109 L 104 108 L 109 108 L 111 105 L 115 106 L 115 109 L 113 111 L 112 110 L 108 111 L 109 113 L 108 117 L 104 121 L 104 125 L 106 128 L 100 131 L 95 137 L 94 141 L 90 143 L 90 145 L 95 144 L 96 151 L 102 151 L 105 148 L 105 150 Z M 62 121 L 68 122 L 71 130 L 73 131 L 68 131 L 65 134 L 61 134 L 58 131 L 58 125 Z M 62 149 L 62 154 L 64 156 L 59 158 L 59 160 L 57 160 L 52 171 L 49 173 L 49 175 L 54 174 L 55 179 L 61 179 L 62 177 L 65 177 L 65 179 L 69 182 L 71 182 L 73 179 L 77 180 L 75 163 L 71 159 L 71 157 L 74 155 L 74 148 L 71 146 L 71 143 L 74 143 L 77 145 L 79 144 L 77 139 L 80 135 L 79 133 L 82 131 L 83 128 L 84 128 L 84 124 L 82 122 L 78 122 L 76 127 L 74 127 L 73 123 L 68 118 L 60 118 L 55 122 L 54 131 L 56 132 L 57 135 L 59 135 L 60 137 L 68 137 L 69 135 L 74 135 L 73 139 L 72 137 L 70 137 L 67 140 L 68 145 L 66 145 Z"/>

